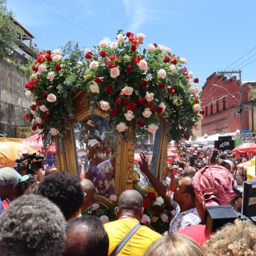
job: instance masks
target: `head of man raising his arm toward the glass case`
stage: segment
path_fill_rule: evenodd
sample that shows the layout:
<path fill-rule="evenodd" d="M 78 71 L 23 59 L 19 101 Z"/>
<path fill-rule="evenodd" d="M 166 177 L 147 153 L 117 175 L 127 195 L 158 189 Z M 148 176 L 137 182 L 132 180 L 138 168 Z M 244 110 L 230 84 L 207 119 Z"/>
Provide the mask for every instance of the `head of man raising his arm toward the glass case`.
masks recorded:
<path fill-rule="evenodd" d="M 192 178 L 186 176 L 178 181 L 178 186 L 174 191 L 174 201 L 183 209 L 195 207 L 195 191 L 192 186 Z"/>

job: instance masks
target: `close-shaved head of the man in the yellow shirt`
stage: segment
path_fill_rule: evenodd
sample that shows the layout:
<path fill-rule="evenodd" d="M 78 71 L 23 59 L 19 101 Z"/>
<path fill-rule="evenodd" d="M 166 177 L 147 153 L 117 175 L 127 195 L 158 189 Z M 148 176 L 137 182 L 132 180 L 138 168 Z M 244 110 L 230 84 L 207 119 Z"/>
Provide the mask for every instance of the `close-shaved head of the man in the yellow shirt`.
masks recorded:
<path fill-rule="evenodd" d="M 144 212 L 142 202 L 142 195 L 138 191 L 124 191 L 119 196 L 118 206 L 115 208 L 117 218 L 121 217 L 122 215 L 131 215 L 140 220 Z"/>

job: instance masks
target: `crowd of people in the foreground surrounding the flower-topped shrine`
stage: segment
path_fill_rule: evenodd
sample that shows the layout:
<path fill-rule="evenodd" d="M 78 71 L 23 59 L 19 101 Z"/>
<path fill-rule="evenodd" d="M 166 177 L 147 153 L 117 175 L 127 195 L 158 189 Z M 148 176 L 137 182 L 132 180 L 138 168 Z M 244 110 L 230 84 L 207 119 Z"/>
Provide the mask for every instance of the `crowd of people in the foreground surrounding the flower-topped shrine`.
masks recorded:
<path fill-rule="evenodd" d="M 171 162 L 164 181 L 149 171 L 140 154 L 140 174 L 171 204 L 169 230 L 159 234 L 141 223 L 143 198 L 123 191 L 110 223 L 82 215 L 94 203 L 95 185 L 58 169 L 48 168 L 31 181 L 12 168 L 0 169 L 0 256 L 98 255 L 256 255 L 256 229 L 251 220 L 235 220 L 216 232 L 206 226 L 208 206 L 231 205 L 241 199 L 233 191 L 242 173 L 228 152 Z M 214 160 L 214 161 L 213 161 Z"/>

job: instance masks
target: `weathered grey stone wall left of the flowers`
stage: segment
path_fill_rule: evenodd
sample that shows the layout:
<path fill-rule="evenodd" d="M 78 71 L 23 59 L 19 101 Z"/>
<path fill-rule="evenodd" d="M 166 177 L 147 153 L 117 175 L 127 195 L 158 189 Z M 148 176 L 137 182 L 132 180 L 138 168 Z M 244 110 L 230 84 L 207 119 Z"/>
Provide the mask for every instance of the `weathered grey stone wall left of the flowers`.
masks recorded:
<path fill-rule="evenodd" d="M 26 99 L 24 85 L 28 78 L 0 60 L 0 134 L 16 137 L 17 127 L 28 127 L 23 112 L 30 102 Z"/>

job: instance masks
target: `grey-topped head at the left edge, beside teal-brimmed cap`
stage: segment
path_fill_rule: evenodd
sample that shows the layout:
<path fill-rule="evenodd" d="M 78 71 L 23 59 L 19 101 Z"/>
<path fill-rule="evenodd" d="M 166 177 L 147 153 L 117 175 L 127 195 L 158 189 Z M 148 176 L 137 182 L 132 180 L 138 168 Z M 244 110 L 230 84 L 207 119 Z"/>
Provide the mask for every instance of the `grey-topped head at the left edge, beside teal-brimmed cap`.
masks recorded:
<path fill-rule="evenodd" d="M 18 173 L 11 167 L 0 169 L 0 198 L 4 200 L 11 196 L 18 184 Z"/>

